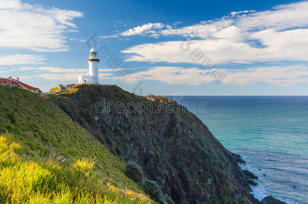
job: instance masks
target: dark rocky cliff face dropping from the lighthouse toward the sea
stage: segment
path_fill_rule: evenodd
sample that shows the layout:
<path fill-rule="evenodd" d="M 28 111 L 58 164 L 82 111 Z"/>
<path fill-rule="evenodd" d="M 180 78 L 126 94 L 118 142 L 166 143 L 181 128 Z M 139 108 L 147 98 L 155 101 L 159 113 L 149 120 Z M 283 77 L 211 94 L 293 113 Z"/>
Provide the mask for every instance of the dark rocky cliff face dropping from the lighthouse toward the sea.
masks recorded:
<path fill-rule="evenodd" d="M 49 100 L 115 156 L 139 164 L 175 203 L 259 203 L 234 156 L 198 117 L 169 98 L 81 85 Z"/>

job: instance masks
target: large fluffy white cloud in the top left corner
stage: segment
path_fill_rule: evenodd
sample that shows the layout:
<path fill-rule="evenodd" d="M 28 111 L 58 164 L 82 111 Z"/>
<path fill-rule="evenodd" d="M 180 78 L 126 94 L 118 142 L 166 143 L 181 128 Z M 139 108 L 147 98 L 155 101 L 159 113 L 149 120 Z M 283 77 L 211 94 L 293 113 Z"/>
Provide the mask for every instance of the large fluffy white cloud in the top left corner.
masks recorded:
<path fill-rule="evenodd" d="M 34 51 L 66 51 L 65 32 L 76 31 L 72 21 L 83 14 L 59 8 L 0 0 L 0 47 Z"/>

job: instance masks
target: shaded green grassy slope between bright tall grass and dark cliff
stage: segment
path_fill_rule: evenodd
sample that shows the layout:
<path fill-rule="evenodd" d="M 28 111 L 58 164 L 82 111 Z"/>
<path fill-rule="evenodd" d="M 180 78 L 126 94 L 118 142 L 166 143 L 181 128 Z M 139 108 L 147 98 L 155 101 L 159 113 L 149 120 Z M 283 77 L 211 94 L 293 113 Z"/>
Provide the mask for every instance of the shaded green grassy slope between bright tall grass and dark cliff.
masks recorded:
<path fill-rule="evenodd" d="M 120 188 L 141 192 L 141 187 L 124 174 L 124 163 L 43 97 L 0 86 L 0 110 L 0 132 L 14 133 L 14 140 L 29 157 L 55 153 L 64 155 L 68 162 L 95 158 L 94 172 L 98 177 L 111 180 Z"/>

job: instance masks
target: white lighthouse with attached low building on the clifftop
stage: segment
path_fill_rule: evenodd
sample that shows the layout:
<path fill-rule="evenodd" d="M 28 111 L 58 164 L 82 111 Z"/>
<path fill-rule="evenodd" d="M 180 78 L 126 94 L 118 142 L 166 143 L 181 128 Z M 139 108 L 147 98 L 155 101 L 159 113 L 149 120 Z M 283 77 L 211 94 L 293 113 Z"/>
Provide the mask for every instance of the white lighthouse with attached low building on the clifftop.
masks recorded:
<path fill-rule="evenodd" d="M 87 75 L 78 76 L 78 84 L 98 84 L 98 63 L 97 52 L 94 47 L 90 50 L 88 58 L 89 72 Z"/>

